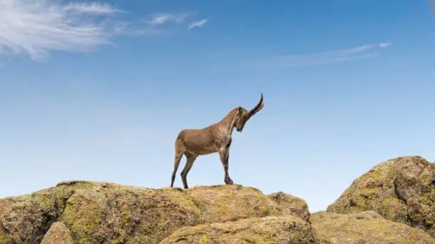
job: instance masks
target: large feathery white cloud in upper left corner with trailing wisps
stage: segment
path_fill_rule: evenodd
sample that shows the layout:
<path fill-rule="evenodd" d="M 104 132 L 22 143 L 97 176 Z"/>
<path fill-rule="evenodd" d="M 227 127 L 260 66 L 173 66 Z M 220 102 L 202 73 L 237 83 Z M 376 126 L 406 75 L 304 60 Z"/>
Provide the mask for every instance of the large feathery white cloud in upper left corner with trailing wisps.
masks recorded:
<path fill-rule="evenodd" d="M 156 35 L 165 23 L 185 23 L 192 13 L 159 13 L 146 21 L 97 1 L 0 0 L 0 56 L 43 61 L 52 51 L 89 52 L 119 35 Z"/>

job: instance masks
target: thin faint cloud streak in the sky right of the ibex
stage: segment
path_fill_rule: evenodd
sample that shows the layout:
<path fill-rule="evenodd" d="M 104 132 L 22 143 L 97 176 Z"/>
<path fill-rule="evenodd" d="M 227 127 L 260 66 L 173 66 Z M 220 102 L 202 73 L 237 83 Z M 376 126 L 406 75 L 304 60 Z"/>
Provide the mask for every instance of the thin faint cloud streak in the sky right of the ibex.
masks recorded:
<path fill-rule="evenodd" d="M 321 65 L 333 62 L 348 62 L 376 57 L 377 50 L 387 48 L 391 43 L 361 45 L 355 48 L 332 50 L 328 52 L 313 52 L 301 55 L 278 55 L 262 62 L 252 64 L 255 67 L 296 67 Z"/>

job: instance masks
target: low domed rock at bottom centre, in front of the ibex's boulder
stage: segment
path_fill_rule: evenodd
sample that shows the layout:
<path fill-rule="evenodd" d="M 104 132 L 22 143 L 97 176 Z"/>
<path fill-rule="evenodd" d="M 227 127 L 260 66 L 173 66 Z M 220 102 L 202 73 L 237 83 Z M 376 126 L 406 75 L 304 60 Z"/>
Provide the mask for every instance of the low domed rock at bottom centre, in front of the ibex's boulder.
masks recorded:
<path fill-rule="evenodd" d="M 296 216 L 268 216 L 245 218 L 225 223 L 210 223 L 184 227 L 163 239 L 160 244 L 169 243 L 329 243 L 318 235 L 309 223 Z"/>

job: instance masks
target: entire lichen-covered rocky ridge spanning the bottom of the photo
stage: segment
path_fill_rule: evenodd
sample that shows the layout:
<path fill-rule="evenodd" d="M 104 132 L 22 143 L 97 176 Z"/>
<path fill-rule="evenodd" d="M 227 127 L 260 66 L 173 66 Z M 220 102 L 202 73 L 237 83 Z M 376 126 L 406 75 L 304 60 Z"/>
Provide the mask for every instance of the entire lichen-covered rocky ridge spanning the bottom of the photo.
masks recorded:
<path fill-rule="evenodd" d="M 434 243 L 433 164 L 398 157 L 328 206 L 241 185 L 190 189 L 70 181 L 0 199 L 0 244 Z"/>

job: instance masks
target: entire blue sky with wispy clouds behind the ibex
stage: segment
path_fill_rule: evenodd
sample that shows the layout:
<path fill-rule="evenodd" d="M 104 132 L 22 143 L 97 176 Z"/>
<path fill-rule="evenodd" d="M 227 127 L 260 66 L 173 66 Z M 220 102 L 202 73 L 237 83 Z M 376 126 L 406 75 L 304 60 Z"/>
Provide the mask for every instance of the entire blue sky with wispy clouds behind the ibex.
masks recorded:
<path fill-rule="evenodd" d="M 233 133 L 237 184 L 319 211 L 379 162 L 435 161 L 429 1 L 36 3 L 0 0 L 0 197 L 68 179 L 168 187 L 178 132 L 260 92 Z M 218 155 L 188 183 L 223 184 Z"/>

